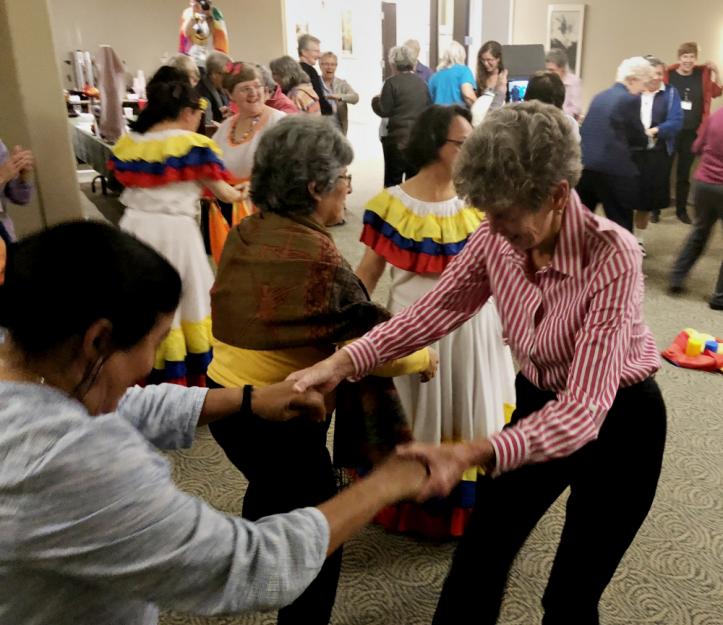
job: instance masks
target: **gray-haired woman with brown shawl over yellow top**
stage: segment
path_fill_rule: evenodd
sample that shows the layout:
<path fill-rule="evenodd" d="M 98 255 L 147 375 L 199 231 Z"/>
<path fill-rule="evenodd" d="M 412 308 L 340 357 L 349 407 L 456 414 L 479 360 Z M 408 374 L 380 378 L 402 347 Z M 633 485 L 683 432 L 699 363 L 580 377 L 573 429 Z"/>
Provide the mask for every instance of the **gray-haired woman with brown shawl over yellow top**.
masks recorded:
<path fill-rule="evenodd" d="M 260 212 L 229 233 L 211 291 L 209 386 L 284 380 L 389 318 L 369 301 L 326 230 L 343 213 L 352 158 L 349 142 L 318 117 L 289 116 L 262 137 L 251 175 L 251 198 Z M 375 374 L 431 376 L 434 360 L 422 350 Z M 370 376 L 338 389 L 336 409 L 336 464 L 379 457 L 409 437 L 389 378 Z M 247 415 L 211 428 L 249 480 L 245 518 L 313 506 L 336 492 L 326 448 L 329 418 L 279 424 Z M 364 449 L 355 445 L 360 440 Z M 340 565 L 337 552 L 309 589 L 279 612 L 279 623 L 328 622 Z"/>

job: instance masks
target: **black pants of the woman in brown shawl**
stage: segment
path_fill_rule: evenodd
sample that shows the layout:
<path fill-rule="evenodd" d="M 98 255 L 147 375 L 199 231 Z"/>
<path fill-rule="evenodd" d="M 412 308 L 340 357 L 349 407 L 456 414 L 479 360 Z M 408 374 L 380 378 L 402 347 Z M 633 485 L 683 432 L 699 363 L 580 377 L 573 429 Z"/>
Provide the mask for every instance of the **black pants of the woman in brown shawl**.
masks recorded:
<path fill-rule="evenodd" d="M 208 380 L 211 388 L 219 388 Z M 285 423 L 239 414 L 210 424 L 211 434 L 233 465 L 248 479 L 242 516 L 250 521 L 296 508 L 315 506 L 337 492 L 326 448 L 329 421 L 294 419 Z M 336 599 L 342 550 L 327 558 L 321 572 L 291 605 L 279 610 L 280 625 L 326 625 Z"/>

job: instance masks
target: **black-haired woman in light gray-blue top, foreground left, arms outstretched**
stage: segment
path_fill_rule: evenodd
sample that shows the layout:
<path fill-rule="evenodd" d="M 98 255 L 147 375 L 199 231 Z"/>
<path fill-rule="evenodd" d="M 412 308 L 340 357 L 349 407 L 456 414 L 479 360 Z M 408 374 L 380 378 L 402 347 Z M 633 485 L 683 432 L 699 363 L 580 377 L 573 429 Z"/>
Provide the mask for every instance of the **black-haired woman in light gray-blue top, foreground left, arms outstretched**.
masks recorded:
<path fill-rule="evenodd" d="M 421 464 L 394 459 L 333 499 L 255 523 L 179 490 L 158 449 L 189 447 L 197 426 L 326 412 L 320 394 L 291 382 L 129 389 L 150 371 L 180 297 L 178 272 L 109 225 L 61 224 L 9 246 L 3 623 L 155 625 L 159 608 L 275 609 L 382 506 L 422 485 Z"/>

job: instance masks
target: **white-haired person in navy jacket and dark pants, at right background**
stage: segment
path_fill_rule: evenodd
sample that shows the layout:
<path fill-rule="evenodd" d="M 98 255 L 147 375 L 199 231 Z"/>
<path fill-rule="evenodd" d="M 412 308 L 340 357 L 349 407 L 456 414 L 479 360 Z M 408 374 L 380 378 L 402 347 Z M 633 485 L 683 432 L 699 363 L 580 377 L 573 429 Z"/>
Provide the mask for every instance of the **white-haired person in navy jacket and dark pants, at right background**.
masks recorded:
<path fill-rule="evenodd" d="M 639 171 L 632 149 L 648 144 L 640 120 L 639 95 L 652 77 L 647 59 L 624 60 L 618 67 L 617 82 L 593 98 L 580 130 L 580 199 L 593 211 L 602 203 L 605 216 L 630 232 L 640 202 Z"/>

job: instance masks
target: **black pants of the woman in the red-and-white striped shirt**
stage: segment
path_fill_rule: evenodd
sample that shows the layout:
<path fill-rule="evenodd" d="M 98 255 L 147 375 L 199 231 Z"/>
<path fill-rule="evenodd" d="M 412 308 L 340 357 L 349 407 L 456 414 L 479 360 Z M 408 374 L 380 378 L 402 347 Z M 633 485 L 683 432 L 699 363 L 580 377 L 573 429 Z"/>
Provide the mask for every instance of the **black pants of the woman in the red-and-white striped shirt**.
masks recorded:
<path fill-rule="evenodd" d="M 512 424 L 554 393 L 518 374 Z M 650 509 L 665 444 L 665 404 L 652 378 L 620 389 L 592 441 L 572 455 L 478 480 L 435 625 L 497 621 L 509 569 L 528 534 L 570 486 L 565 525 L 542 599 L 543 625 L 597 625 L 598 602 Z M 472 598 L 472 599 L 470 599 Z"/>

